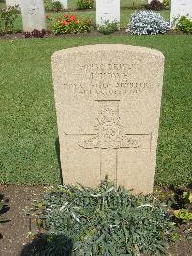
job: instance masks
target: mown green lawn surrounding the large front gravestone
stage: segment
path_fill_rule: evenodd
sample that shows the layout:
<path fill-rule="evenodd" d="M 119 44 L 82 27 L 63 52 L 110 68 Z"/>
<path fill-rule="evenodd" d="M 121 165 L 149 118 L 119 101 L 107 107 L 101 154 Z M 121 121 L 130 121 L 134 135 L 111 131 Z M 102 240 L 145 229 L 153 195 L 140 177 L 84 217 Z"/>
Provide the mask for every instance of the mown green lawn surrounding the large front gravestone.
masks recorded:
<path fill-rule="evenodd" d="M 60 183 L 50 57 L 60 49 L 95 43 L 164 53 L 156 184 L 192 184 L 192 36 L 180 35 L 1 40 L 0 183 Z"/>

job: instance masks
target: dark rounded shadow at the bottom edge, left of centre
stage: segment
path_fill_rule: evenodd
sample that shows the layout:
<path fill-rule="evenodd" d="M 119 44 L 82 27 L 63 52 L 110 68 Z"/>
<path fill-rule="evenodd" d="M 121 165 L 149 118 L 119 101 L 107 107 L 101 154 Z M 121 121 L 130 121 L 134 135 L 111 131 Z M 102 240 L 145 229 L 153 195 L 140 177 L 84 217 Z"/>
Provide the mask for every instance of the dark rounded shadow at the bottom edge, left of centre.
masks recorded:
<path fill-rule="evenodd" d="M 72 256 L 72 240 L 64 235 L 37 235 L 26 244 L 20 256 Z"/>

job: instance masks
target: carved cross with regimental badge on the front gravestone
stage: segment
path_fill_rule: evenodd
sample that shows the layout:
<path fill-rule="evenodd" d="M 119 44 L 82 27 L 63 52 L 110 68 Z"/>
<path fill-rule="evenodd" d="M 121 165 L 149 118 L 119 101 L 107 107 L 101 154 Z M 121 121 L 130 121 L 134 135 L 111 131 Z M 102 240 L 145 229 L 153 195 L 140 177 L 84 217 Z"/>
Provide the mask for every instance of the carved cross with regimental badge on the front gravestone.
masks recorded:
<path fill-rule="evenodd" d="M 84 150 L 100 150 L 100 176 L 117 179 L 118 150 L 150 149 L 151 134 L 127 134 L 120 125 L 119 100 L 96 100 L 99 104 L 95 134 L 80 134 L 78 145 Z M 72 134 L 67 134 L 72 135 Z"/>

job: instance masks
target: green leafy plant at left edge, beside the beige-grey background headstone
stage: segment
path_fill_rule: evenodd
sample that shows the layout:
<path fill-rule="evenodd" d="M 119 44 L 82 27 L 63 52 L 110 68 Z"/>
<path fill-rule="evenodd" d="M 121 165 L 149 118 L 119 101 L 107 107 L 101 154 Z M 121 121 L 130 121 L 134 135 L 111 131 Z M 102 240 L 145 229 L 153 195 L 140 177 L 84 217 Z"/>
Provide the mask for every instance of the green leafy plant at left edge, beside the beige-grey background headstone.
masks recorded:
<path fill-rule="evenodd" d="M 0 32 L 12 33 L 14 30 L 14 22 L 18 16 L 17 7 L 8 7 L 0 10 Z"/>

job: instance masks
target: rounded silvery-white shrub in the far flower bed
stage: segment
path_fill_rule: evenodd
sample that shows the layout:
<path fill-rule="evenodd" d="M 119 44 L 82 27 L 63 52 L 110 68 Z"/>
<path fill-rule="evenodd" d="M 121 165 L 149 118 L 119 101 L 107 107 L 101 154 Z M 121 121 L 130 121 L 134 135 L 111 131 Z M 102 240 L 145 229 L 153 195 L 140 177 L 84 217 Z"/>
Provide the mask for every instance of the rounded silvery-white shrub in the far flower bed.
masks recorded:
<path fill-rule="evenodd" d="M 156 35 L 158 33 L 164 34 L 169 29 L 169 23 L 160 13 L 140 11 L 131 15 L 131 22 L 126 31 L 135 35 Z"/>

